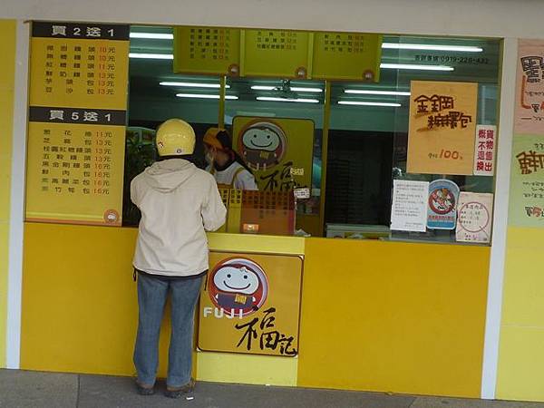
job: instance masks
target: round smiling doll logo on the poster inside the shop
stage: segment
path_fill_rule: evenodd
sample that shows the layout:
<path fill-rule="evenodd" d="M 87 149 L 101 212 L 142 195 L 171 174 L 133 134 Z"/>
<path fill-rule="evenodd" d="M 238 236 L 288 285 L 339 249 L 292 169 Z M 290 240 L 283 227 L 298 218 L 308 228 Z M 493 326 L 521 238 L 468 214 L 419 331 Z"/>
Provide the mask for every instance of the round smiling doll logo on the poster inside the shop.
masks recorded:
<path fill-rule="evenodd" d="M 239 133 L 238 150 L 253 170 L 269 170 L 287 152 L 285 131 L 273 121 L 249 122 Z"/>

